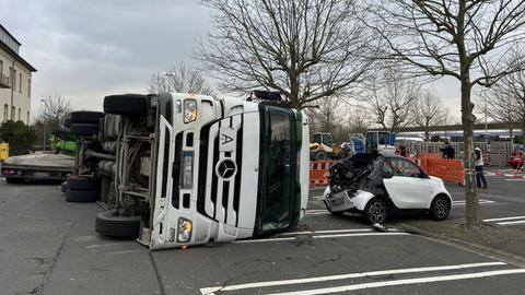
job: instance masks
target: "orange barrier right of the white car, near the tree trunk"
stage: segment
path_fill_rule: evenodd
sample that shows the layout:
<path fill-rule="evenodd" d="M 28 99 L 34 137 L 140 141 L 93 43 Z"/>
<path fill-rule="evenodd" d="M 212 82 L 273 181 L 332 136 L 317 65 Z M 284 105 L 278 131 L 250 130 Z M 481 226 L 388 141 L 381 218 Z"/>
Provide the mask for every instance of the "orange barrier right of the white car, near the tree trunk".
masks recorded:
<path fill-rule="evenodd" d="M 429 175 L 440 177 L 444 181 L 451 181 L 464 185 L 465 168 L 460 160 L 445 160 L 445 158 L 422 158 L 421 168 Z"/>

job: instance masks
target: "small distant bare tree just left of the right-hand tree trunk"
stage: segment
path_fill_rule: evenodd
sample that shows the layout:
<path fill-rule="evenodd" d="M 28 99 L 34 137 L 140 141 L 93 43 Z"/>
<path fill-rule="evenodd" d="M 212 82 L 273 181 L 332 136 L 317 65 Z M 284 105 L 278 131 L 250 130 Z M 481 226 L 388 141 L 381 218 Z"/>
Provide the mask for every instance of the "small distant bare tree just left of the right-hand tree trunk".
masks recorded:
<path fill-rule="evenodd" d="M 448 109 L 441 99 L 430 91 L 423 92 L 417 99 L 415 122 L 424 131 L 424 139 L 430 141 L 430 134 L 440 125 L 448 122 Z"/>

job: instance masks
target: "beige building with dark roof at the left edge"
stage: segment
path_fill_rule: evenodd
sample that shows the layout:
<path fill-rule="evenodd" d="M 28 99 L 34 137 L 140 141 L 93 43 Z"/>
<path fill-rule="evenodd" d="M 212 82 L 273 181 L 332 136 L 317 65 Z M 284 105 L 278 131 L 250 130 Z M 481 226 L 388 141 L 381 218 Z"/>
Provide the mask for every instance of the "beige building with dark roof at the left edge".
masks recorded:
<path fill-rule="evenodd" d="M 31 76 L 36 69 L 19 55 L 20 42 L 0 24 L 0 120 L 30 122 Z"/>

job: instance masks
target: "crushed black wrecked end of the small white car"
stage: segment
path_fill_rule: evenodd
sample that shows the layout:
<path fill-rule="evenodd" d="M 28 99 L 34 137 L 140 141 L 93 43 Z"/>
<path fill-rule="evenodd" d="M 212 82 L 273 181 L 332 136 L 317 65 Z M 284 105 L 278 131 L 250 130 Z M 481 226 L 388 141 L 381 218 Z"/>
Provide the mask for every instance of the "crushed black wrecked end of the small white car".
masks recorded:
<path fill-rule="evenodd" d="M 373 194 L 386 194 L 383 184 L 384 162 L 382 155 L 355 154 L 336 163 L 330 168 L 330 191 L 364 190 Z"/>

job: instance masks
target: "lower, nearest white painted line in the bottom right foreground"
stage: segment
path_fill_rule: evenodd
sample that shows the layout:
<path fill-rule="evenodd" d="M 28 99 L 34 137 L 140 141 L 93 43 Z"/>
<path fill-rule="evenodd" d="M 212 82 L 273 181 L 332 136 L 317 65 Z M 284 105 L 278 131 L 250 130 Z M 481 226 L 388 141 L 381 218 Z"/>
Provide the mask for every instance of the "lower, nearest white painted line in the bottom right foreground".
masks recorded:
<path fill-rule="evenodd" d="M 516 273 L 525 273 L 525 269 L 510 269 L 510 270 L 485 271 L 485 272 L 466 273 L 466 274 L 453 274 L 453 275 L 439 275 L 439 276 L 428 276 L 428 278 L 418 278 L 418 279 L 405 279 L 405 280 L 395 280 L 395 281 L 346 285 L 346 286 L 338 286 L 338 287 L 306 290 L 306 291 L 300 291 L 300 292 L 273 293 L 273 294 L 269 294 L 269 295 L 317 295 L 317 294 L 341 293 L 341 292 L 363 290 L 363 288 L 457 281 L 457 280 L 479 279 L 479 278 L 504 275 L 504 274 L 516 274 Z"/>

